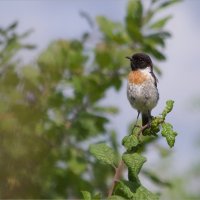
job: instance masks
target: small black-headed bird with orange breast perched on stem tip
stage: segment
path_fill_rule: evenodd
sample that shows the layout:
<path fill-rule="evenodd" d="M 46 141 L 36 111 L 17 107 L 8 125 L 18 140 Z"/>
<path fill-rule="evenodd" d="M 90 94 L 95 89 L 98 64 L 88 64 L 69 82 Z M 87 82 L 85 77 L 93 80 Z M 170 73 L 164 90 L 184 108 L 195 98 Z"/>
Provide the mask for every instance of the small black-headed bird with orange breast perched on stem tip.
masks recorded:
<path fill-rule="evenodd" d="M 131 67 L 128 74 L 127 97 L 131 106 L 138 112 L 137 121 L 141 113 L 142 127 L 149 128 L 152 120 L 151 111 L 159 100 L 158 79 L 153 72 L 153 63 L 145 53 L 135 53 L 126 58 L 130 60 Z"/>

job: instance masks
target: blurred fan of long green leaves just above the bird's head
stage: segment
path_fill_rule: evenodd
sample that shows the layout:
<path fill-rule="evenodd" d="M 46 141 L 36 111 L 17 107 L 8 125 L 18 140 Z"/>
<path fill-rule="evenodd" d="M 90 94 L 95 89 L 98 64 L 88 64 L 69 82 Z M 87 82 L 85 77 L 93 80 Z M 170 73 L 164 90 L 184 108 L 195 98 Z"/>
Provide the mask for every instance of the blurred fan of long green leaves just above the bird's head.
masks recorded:
<path fill-rule="evenodd" d="M 171 19 L 171 15 L 154 20 L 154 16 L 167 6 L 177 1 L 152 1 L 146 10 L 140 0 L 130 0 L 126 15 L 127 34 L 131 38 L 133 47 L 138 51 L 150 53 L 158 60 L 165 60 L 165 55 L 160 47 L 165 47 L 165 40 L 171 35 L 164 30 L 165 25 Z"/>

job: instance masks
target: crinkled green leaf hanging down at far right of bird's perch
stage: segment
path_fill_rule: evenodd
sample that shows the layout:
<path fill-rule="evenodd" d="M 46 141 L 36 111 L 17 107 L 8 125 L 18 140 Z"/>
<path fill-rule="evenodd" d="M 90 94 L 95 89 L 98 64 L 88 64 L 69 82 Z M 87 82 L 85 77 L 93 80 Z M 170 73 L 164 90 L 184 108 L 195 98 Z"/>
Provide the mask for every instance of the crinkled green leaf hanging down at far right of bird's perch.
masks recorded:
<path fill-rule="evenodd" d="M 169 123 L 163 123 L 161 134 L 166 138 L 168 145 L 173 147 L 175 143 L 175 137 L 177 136 L 177 133 L 173 131 L 173 126 Z"/>

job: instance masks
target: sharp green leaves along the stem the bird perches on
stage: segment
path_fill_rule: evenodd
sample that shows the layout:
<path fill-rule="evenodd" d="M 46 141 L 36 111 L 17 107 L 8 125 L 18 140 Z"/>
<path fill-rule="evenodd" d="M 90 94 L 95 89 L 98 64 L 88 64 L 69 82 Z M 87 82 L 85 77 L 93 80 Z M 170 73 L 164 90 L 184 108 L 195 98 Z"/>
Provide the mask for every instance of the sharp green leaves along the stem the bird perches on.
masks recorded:
<path fill-rule="evenodd" d="M 114 191 L 112 192 L 114 199 L 120 196 L 125 199 L 136 199 L 136 200 L 157 200 L 158 195 L 152 193 L 147 188 L 145 188 L 140 180 L 139 173 L 143 164 L 146 162 L 146 158 L 141 155 L 141 148 L 146 143 L 146 137 L 155 137 L 160 131 L 160 126 L 162 126 L 161 134 L 166 137 L 167 142 L 170 147 L 173 147 L 175 142 L 176 133 L 172 130 L 172 125 L 165 122 L 165 118 L 168 113 L 173 109 L 173 101 L 168 100 L 166 102 L 166 107 L 164 108 L 161 117 L 154 117 L 151 122 L 151 127 L 148 128 L 143 134 L 143 139 L 139 137 L 141 133 L 141 128 L 135 128 L 129 136 L 125 136 L 122 140 L 122 144 L 126 148 L 126 152 L 122 155 L 122 160 L 128 168 L 128 181 L 119 181 L 116 183 Z M 116 153 L 106 144 L 91 145 L 90 152 L 100 161 L 105 164 L 114 165 Z M 117 157 L 116 157 L 117 158 Z M 116 173 L 117 170 L 116 170 Z M 168 186 L 162 180 L 160 180 L 155 175 L 146 173 L 151 180 L 156 183 L 162 183 L 162 185 Z M 117 196 L 116 196 L 117 195 Z M 110 197 L 112 199 L 112 196 Z"/>

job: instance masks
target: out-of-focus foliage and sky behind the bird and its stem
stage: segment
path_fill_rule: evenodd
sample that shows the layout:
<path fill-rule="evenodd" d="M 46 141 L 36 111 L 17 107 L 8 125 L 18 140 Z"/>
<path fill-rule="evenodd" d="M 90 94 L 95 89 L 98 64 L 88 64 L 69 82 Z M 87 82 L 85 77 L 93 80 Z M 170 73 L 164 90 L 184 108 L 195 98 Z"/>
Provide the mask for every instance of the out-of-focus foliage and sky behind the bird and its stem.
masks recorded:
<path fill-rule="evenodd" d="M 0 198 L 106 196 L 114 172 L 88 147 L 124 151 L 137 115 L 124 57 L 143 51 L 159 79 L 152 114 L 173 99 L 178 136 L 173 149 L 163 138 L 147 146 L 142 180 L 161 199 L 199 199 L 199 9 L 198 0 L 1 0 Z"/>

